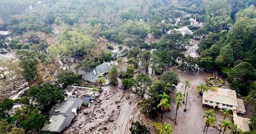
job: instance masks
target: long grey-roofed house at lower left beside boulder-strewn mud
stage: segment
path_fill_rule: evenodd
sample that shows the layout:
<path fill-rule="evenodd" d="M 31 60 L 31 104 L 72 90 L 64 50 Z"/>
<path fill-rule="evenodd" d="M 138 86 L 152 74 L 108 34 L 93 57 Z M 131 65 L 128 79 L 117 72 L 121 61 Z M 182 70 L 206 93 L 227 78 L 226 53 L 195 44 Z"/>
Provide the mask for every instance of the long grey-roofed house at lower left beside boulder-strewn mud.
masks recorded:
<path fill-rule="evenodd" d="M 62 132 L 77 115 L 76 111 L 82 106 L 82 103 L 83 100 L 80 98 L 67 97 L 57 106 L 50 118 L 50 123 L 44 124 L 42 131 Z"/>

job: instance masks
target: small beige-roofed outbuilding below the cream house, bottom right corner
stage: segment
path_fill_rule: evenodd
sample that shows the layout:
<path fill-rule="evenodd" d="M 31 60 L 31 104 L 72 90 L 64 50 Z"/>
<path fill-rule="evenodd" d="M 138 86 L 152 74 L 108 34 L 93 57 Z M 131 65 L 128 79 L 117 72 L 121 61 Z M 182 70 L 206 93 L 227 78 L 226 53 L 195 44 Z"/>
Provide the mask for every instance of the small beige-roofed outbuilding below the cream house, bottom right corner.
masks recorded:
<path fill-rule="evenodd" d="M 234 124 L 237 124 L 237 128 L 242 132 L 250 131 L 250 120 L 248 118 L 242 118 L 240 116 L 233 116 Z"/>

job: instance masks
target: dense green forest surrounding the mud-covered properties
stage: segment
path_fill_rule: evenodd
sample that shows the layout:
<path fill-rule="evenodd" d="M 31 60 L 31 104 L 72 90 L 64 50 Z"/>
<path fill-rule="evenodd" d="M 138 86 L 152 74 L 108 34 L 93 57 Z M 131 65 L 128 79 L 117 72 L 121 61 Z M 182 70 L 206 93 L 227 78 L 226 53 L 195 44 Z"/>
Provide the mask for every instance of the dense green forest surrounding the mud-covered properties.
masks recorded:
<path fill-rule="evenodd" d="M 124 90 L 134 87 L 141 97 L 137 106 L 148 118 L 168 109 L 168 95 L 181 82 L 174 68 L 191 75 L 217 72 L 255 112 L 255 6 L 256 0 L 0 0 L 0 30 L 9 32 L 0 35 L 0 53 L 14 53 L 0 59 L 0 134 L 50 134 L 40 130 L 52 106 L 64 101 L 62 90 L 83 85 L 81 71 L 112 62 L 112 44 L 128 49 L 127 60 L 118 58 L 96 84 L 102 87 L 108 79 L 116 86 L 121 79 Z M 193 34 L 178 32 L 184 26 Z M 200 41 L 199 56 L 185 56 L 194 41 Z M 60 69 L 60 63 L 74 69 Z M 9 99 L 22 83 L 28 91 Z M 176 93 L 177 110 L 184 95 Z M 16 103 L 22 106 L 10 116 Z M 252 131 L 244 134 L 256 134 L 255 116 Z M 15 120 L 19 127 L 13 128 Z M 132 134 L 145 129 L 133 125 Z"/>

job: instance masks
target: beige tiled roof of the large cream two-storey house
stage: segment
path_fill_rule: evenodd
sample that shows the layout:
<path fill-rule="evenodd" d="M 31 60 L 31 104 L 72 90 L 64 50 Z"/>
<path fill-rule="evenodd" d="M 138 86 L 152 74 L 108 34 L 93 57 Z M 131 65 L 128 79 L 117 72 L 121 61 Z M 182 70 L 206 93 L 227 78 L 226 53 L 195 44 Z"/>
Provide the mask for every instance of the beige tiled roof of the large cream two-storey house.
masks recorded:
<path fill-rule="evenodd" d="M 230 89 L 216 88 L 216 91 L 204 92 L 203 99 L 212 102 L 238 106 L 236 92 Z"/>

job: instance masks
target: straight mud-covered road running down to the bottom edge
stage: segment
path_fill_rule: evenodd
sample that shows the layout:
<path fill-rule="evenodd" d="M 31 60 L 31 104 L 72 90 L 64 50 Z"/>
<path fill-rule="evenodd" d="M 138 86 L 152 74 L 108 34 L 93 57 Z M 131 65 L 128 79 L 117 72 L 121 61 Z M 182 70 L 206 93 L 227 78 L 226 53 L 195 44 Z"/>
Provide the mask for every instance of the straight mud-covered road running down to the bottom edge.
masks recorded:
<path fill-rule="evenodd" d="M 129 104 L 129 101 L 132 103 Z M 120 114 L 118 120 L 116 121 L 116 125 L 114 127 L 114 131 L 112 134 L 124 134 L 129 116 L 132 111 L 132 105 L 134 102 L 134 95 L 132 94 L 129 99 L 125 100 L 123 105 L 121 106 Z"/>

